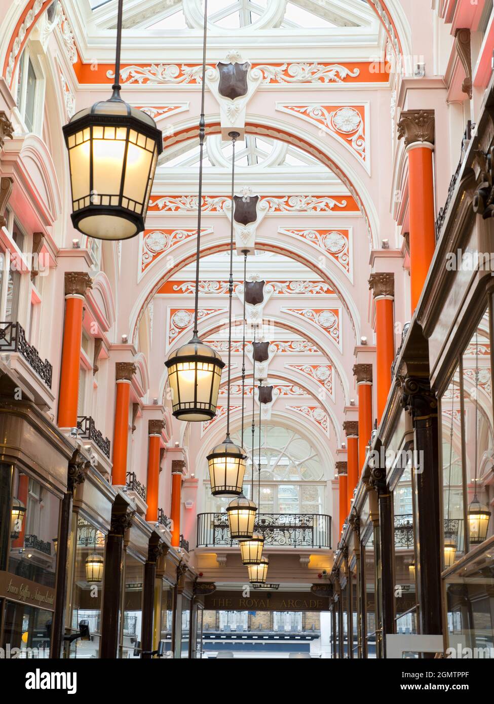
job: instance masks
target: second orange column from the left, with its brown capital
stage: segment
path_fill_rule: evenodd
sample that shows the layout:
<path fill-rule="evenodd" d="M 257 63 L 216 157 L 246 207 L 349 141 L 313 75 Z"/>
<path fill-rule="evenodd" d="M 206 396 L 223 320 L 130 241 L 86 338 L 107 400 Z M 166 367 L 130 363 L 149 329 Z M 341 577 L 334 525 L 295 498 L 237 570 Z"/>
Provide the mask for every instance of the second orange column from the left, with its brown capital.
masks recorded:
<path fill-rule="evenodd" d="M 127 483 L 130 384 L 132 384 L 132 376 L 135 372 L 136 367 L 132 362 L 116 363 L 116 401 L 111 483 L 117 486 L 125 486 Z"/>

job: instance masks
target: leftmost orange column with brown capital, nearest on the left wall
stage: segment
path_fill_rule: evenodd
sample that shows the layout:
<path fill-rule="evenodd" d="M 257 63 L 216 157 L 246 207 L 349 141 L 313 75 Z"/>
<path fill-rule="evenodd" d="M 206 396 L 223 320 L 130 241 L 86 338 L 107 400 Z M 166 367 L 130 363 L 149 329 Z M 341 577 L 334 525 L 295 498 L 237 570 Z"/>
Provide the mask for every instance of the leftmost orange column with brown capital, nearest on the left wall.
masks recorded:
<path fill-rule="evenodd" d="M 58 427 L 61 428 L 75 428 L 78 422 L 82 308 L 85 291 L 90 288 L 91 279 L 87 274 L 78 271 L 66 272 L 66 310 L 58 390 Z"/>

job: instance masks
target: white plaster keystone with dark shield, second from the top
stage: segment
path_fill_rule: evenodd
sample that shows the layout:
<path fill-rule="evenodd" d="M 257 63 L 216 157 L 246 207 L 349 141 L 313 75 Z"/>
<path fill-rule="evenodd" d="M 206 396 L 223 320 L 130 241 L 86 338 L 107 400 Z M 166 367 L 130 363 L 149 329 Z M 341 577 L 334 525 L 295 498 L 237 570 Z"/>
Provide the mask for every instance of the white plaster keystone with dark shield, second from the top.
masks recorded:
<path fill-rule="evenodd" d="M 233 232 L 235 234 L 237 254 L 241 255 L 246 251 L 248 254 L 254 254 L 257 227 L 264 220 L 264 215 L 268 213 L 270 203 L 259 196 L 253 196 L 252 189 L 249 187 L 240 189 L 240 193 L 234 196 L 234 200 Z M 232 219 L 232 202 L 230 199 L 223 203 L 223 212 L 228 220 Z M 247 215 L 247 217 L 244 217 L 244 215 Z"/>

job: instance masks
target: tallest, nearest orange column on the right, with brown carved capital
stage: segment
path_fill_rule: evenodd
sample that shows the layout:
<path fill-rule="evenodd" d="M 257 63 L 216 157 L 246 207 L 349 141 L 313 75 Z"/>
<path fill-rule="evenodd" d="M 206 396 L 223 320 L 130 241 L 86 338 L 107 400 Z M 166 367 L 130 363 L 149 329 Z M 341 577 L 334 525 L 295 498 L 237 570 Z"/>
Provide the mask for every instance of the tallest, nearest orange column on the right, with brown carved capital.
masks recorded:
<path fill-rule="evenodd" d="M 404 111 L 398 123 L 408 154 L 410 287 L 414 312 L 436 249 L 434 208 L 434 112 Z"/>

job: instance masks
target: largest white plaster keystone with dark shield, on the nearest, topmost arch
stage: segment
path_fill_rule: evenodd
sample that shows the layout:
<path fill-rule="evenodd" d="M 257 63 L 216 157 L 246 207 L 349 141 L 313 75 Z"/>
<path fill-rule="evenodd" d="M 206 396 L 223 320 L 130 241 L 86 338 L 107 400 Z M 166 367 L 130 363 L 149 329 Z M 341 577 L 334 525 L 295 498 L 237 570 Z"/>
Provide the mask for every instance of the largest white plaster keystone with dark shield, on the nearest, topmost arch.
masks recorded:
<path fill-rule="evenodd" d="M 230 132 L 245 139 L 247 103 L 261 82 L 261 71 L 242 61 L 236 50 L 229 51 L 226 60 L 218 61 L 215 68 L 206 70 L 206 85 L 220 106 L 221 137 L 225 142 L 231 139 Z"/>

